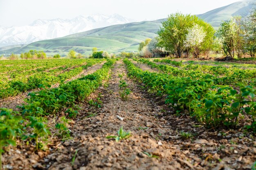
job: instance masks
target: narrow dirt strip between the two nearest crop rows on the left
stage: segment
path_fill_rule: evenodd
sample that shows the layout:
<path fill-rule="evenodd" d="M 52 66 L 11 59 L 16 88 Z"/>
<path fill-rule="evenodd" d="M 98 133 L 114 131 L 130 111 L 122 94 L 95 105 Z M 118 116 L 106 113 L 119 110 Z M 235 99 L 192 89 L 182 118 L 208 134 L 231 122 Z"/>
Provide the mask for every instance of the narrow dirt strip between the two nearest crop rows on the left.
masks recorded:
<path fill-rule="evenodd" d="M 98 69 L 100 69 L 102 67 L 102 65 L 105 63 L 106 61 L 104 62 L 101 62 L 100 64 L 95 64 L 85 70 L 83 70 L 81 73 L 79 73 L 78 75 L 70 78 L 70 79 L 67 79 L 65 81 L 66 82 L 70 82 L 74 79 L 78 79 L 80 77 L 83 77 L 85 75 L 89 75 L 89 74 L 92 74 L 94 73 L 95 71 L 97 71 Z M 57 88 L 60 84 L 54 84 L 51 86 L 51 88 Z M 31 91 L 27 91 L 25 93 L 21 93 L 20 95 L 17 95 L 15 97 L 8 97 L 6 99 L 0 99 L 0 108 L 11 108 L 13 110 L 19 110 L 18 108 L 16 108 L 16 106 L 21 106 L 22 104 L 24 104 L 24 99 L 27 97 L 27 95 L 31 92 L 34 92 L 34 91 L 40 91 L 40 89 L 36 89 L 36 90 L 31 90 Z"/>

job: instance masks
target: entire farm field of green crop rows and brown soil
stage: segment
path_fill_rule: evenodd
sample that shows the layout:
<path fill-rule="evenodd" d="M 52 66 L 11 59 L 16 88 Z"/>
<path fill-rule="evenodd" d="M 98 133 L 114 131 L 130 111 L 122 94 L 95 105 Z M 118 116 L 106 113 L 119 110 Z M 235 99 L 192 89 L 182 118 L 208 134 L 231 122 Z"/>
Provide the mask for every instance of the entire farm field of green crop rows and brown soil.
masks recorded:
<path fill-rule="evenodd" d="M 255 69 L 170 58 L 0 61 L 2 169 L 252 169 Z"/>

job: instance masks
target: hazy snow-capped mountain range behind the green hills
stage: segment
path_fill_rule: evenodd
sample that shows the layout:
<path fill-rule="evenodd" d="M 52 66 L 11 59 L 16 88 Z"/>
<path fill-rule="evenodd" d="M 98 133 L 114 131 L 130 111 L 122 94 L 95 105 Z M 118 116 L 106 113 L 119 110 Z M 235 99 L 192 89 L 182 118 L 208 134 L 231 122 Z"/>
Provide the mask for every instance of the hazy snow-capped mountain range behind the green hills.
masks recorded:
<path fill-rule="evenodd" d="M 135 22 L 118 14 L 78 16 L 71 20 L 35 20 L 26 26 L 6 28 L 0 26 L 0 47 L 15 44 L 29 44 L 40 40 L 59 38 L 115 24 Z"/>

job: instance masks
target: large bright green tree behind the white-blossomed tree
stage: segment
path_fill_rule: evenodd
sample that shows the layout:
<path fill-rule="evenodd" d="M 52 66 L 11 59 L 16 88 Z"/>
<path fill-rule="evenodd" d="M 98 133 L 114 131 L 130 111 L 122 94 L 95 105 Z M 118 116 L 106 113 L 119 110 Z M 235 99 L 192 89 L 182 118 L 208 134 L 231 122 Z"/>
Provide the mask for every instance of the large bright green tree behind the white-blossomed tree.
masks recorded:
<path fill-rule="evenodd" d="M 201 43 L 201 51 L 209 51 L 212 48 L 214 29 L 213 27 L 199 19 L 195 15 L 184 15 L 174 13 L 168 16 L 167 20 L 162 22 L 162 27 L 157 31 L 159 35 L 159 46 L 175 54 L 176 57 L 182 57 L 186 51 L 185 40 L 189 28 L 194 24 L 202 26 L 206 33 L 204 41 Z"/>

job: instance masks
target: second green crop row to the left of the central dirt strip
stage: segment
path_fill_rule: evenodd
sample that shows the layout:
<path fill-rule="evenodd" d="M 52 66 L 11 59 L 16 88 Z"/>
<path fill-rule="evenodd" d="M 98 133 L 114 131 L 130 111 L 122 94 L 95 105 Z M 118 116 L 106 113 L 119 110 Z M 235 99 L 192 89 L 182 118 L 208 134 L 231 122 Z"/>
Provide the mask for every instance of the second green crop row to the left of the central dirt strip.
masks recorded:
<path fill-rule="evenodd" d="M 89 66 L 97 64 L 102 60 L 87 60 L 87 64 L 83 66 L 76 67 L 71 69 L 70 71 L 65 71 L 59 75 L 55 75 L 55 73 L 51 72 L 41 72 L 35 75 L 25 77 L 21 81 L 12 80 L 9 82 L 7 88 L 0 89 L 0 98 L 6 98 L 10 96 L 16 96 L 21 92 L 26 92 L 35 88 L 42 88 L 46 86 L 50 86 L 52 84 L 64 82 L 66 79 L 74 77 L 87 69 Z"/>

